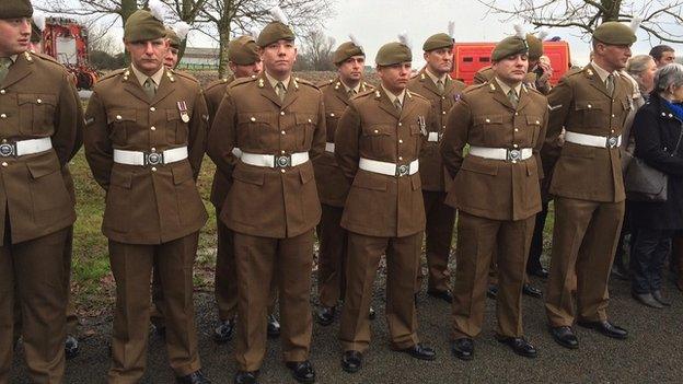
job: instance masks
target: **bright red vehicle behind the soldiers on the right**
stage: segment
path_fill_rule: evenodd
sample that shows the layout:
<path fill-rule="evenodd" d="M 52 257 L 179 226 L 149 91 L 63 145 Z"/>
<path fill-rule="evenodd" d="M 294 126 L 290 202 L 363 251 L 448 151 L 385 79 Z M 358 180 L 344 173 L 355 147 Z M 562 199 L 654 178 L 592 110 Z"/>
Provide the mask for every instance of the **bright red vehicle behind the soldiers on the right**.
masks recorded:
<path fill-rule="evenodd" d="M 472 84 L 474 74 L 479 69 L 491 65 L 490 54 L 495 46 L 496 43 L 455 43 L 453 46 L 455 68 L 451 72 L 451 77 L 467 85 Z M 569 44 L 567 42 L 543 42 L 543 50 L 553 66 L 551 84 L 557 84 L 571 66 Z"/>

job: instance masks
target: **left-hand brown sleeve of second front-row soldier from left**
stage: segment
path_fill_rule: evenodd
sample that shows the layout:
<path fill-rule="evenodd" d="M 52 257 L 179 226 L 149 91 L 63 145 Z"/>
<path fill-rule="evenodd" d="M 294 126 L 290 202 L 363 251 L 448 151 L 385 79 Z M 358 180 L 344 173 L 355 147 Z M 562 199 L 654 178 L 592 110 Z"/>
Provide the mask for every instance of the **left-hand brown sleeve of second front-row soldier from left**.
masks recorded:
<path fill-rule="evenodd" d="M 85 159 L 95 182 L 105 190 L 109 188 L 114 150 L 109 140 L 106 112 L 97 92 L 93 92 L 85 110 L 85 129 L 83 131 Z"/>

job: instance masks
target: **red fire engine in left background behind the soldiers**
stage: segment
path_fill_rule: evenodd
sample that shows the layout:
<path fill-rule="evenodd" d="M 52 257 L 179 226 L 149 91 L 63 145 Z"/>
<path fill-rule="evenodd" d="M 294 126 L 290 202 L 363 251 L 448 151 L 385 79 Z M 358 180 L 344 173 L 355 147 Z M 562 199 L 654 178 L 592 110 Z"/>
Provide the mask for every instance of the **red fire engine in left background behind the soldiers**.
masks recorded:
<path fill-rule="evenodd" d="M 47 18 L 43 30 L 43 54 L 67 67 L 78 89 L 90 90 L 97 82 L 97 71 L 88 62 L 88 30 L 77 21 Z"/>

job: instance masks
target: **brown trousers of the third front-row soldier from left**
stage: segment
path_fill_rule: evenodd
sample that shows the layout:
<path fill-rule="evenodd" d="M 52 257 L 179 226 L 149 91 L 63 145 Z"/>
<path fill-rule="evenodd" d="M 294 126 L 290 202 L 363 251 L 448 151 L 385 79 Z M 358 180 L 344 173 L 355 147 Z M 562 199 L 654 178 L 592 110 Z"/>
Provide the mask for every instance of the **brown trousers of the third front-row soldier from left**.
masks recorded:
<path fill-rule="evenodd" d="M 256 371 L 266 353 L 269 291 L 278 284 L 285 361 L 309 358 L 311 334 L 311 268 L 313 230 L 288 238 L 234 232 L 238 267 L 235 359 L 242 371 Z"/>

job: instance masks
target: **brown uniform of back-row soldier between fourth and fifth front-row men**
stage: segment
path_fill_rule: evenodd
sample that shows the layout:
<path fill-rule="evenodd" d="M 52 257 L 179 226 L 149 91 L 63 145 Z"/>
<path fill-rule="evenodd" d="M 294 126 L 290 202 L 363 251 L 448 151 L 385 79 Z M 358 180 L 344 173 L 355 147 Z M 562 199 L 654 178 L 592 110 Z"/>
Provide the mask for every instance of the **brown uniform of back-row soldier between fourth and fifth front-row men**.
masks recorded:
<path fill-rule="evenodd" d="M 436 135 L 428 136 L 425 140 L 425 149 L 420 155 L 420 176 L 422 177 L 422 198 L 425 200 L 425 213 L 427 226 L 425 231 L 427 242 L 427 266 L 429 268 L 429 291 L 448 291 L 450 287 L 450 272 L 448 268 L 451 241 L 453 237 L 453 223 L 455 210 L 443 203 L 447 191 L 452 183 L 451 176 L 443 166 L 439 141 L 445 130 L 445 114 L 451 109 L 460 94 L 465 89 L 465 83 L 445 77 L 443 93 L 422 69 L 410 82 L 408 89 L 431 103 L 433 125 L 428 129 Z M 420 290 L 422 274 L 417 274 L 416 292 Z"/>

